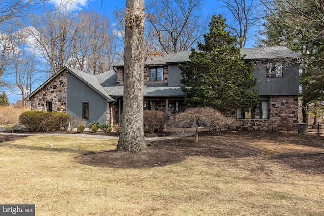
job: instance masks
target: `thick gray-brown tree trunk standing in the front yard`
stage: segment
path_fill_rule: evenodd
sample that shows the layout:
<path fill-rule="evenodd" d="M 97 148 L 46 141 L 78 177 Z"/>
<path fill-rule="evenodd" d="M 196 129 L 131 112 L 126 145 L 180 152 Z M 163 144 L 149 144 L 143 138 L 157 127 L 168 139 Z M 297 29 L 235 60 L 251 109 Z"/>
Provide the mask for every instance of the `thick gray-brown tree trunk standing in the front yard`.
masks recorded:
<path fill-rule="evenodd" d="M 116 151 L 147 151 L 143 126 L 144 1 L 126 0 L 123 121 Z"/>

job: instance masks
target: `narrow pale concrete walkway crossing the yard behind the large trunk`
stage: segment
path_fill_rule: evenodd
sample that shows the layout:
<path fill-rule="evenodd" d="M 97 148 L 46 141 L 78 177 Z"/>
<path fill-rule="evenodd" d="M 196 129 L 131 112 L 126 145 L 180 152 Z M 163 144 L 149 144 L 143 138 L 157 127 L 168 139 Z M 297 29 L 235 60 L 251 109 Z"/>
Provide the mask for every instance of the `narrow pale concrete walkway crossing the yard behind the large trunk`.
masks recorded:
<path fill-rule="evenodd" d="M 97 138 L 97 139 L 111 139 L 111 140 L 119 140 L 117 136 L 108 136 L 108 135 L 91 135 L 91 134 L 60 134 L 60 133 L 10 133 L 10 132 L 0 132 L 0 135 L 22 135 L 22 136 L 72 136 L 72 137 L 85 137 L 85 138 Z M 181 137 L 188 137 L 194 135 L 195 133 L 192 131 L 183 132 L 175 135 L 169 135 L 164 137 L 145 137 L 145 140 L 148 142 L 155 140 L 171 140 L 177 139 Z"/>

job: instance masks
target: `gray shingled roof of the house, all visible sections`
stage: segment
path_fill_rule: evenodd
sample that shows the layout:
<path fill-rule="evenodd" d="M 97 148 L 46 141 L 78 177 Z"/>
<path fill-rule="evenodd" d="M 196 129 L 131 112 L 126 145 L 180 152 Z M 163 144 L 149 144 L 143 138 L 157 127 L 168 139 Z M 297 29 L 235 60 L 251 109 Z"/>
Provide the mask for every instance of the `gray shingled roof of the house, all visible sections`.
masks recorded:
<path fill-rule="evenodd" d="M 256 48 L 243 48 L 240 50 L 242 55 L 245 55 L 246 60 L 260 60 L 260 59 L 276 59 L 276 58 L 300 58 L 298 54 L 291 51 L 285 46 L 276 47 L 256 47 Z M 175 54 L 165 54 L 161 56 L 148 57 L 146 65 L 167 65 L 178 64 L 190 61 L 189 55 L 191 51 L 178 52 Z M 120 62 L 114 67 L 123 67 L 124 62 Z M 98 75 L 91 75 L 82 71 L 64 67 L 62 70 L 67 69 L 79 79 L 88 84 L 92 89 L 107 98 L 109 101 L 115 101 L 114 97 L 123 97 L 124 86 L 116 85 L 116 73 L 114 70 L 107 71 Z M 61 70 L 61 71 L 62 71 Z M 55 77 L 55 75 L 53 76 Z M 49 83 L 50 78 L 41 87 L 35 90 L 26 99 L 36 94 L 39 90 Z M 184 96 L 181 87 L 168 87 L 167 85 L 144 85 L 144 97 L 177 97 Z"/>

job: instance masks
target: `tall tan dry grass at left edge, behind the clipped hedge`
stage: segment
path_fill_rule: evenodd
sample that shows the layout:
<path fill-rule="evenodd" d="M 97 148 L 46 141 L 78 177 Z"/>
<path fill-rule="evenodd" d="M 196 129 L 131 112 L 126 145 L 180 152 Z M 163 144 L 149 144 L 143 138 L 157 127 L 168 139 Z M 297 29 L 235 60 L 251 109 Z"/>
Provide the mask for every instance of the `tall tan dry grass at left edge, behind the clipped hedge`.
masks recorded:
<path fill-rule="evenodd" d="M 29 108 L 16 109 L 8 106 L 0 106 L 0 125 L 18 124 L 19 115 L 28 110 L 30 109 Z"/>

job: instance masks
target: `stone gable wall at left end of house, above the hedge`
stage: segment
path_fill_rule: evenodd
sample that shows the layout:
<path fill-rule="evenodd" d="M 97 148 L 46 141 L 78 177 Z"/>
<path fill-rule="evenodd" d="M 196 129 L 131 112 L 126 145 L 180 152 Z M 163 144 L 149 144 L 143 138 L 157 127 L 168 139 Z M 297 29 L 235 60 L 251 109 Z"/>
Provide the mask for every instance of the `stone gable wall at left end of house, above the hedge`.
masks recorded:
<path fill-rule="evenodd" d="M 52 109 L 66 113 L 67 71 L 64 71 L 44 89 L 31 98 L 31 110 L 46 111 L 46 102 L 52 102 Z"/>

